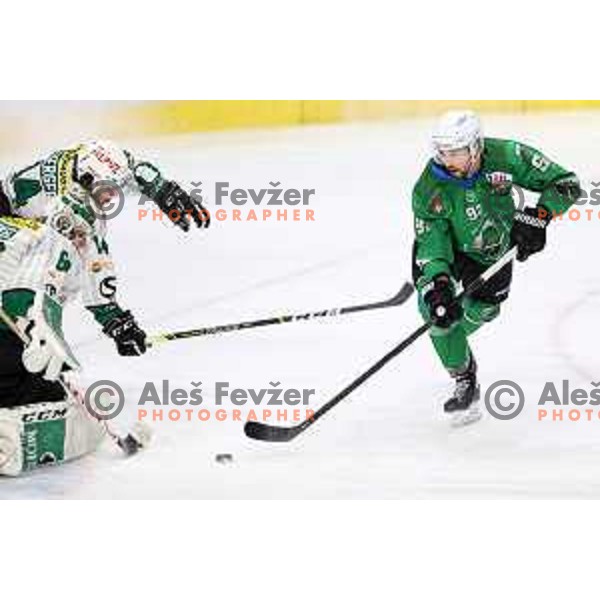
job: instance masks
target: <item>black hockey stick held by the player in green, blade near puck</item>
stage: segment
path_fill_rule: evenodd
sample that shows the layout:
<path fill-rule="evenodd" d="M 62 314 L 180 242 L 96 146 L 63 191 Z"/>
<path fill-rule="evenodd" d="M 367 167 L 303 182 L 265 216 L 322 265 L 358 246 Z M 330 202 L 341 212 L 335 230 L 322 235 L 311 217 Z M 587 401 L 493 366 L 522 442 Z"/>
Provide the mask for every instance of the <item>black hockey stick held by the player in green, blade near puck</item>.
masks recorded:
<path fill-rule="evenodd" d="M 477 279 L 472 281 L 466 289 L 461 291 L 456 297 L 456 302 L 460 302 L 467 294 L 479 290 L 486 281 L 489 281 L 502 267 L 507 265 L 515 258 L 517 249 L 512 248 L 500 260 L 494 263 L 487 271 L 482 273 Z M 443 315 L 439 315 L 443 316 Z M 431 327 L 431 323 L 424 323 L 417 330 L 411 333 L 406 339 L 402 340 L 395 348 L 390 350 L 385 356 L 380 358 L 374 365 L 359 375 L 353 382 L 348 384 L 343 390 L 338 392 L 331 400 L 326 402 L 314 415 L 302 421 L 293 427 L 280 427 L 258 421 L 247 421 L 244 425 L 244 433 L 255 440 L 264 442 L 289 442 L 300 435 L 303 431 L 313 425 L 324 414 L 328 413 L 334 406 L 339 404 L 344 398 L 349 396 L 357 387 L 362 385 L 367 379 L 380 371 L 388 362 L 406 350 L 413 342 L 418 340 Z"/>

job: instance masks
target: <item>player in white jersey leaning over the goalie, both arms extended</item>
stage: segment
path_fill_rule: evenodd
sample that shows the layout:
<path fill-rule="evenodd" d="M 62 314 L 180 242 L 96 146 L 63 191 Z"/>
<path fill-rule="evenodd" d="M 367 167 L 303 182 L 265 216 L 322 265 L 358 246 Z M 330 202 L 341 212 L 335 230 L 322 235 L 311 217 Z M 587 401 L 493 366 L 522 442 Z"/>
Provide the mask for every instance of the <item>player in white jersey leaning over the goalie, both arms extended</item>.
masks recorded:
<path fill-rule="evenodd" d="M 0 215 L 26 217 L 49 223 L 77 243 L 84 238 L 85 306 L 111 337 L 120 354 L 146 351 L 145 334 L 129 311 L 116 302 L 114 261 L 106 239 L 106 211 L 118 197 L 137 188 L 152 199 L 181 229 L 190 223 L 208 227 L 202 204 L 173 181 L 165 180 L 152 164 L 105 140 L 57 150 L 32 165 L 11 173 L 0 185 Z M 52 285 L 51 283 L 49 285 Z"/>

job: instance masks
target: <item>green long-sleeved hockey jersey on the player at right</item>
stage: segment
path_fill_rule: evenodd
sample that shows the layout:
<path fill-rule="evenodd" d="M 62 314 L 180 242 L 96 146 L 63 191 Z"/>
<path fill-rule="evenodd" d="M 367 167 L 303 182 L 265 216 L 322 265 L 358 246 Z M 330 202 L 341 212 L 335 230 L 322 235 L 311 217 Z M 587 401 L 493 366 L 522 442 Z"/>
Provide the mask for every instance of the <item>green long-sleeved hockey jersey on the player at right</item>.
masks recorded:
<path fill-rule="evenodd" d="M 556 183 L 569 179 L 576 182 L 572 171 L 511 140 L 486 138 L 481 169 L 468 179 L 451 176 L 431 160 L 412 197 L 417 286 L 450 274 L 457 253 L 484 266 L 495 262 L 510 247 L 515 189 L 538 192 L 540 208 L 562 213 L 576 198 Z M 523 200 L 522 192 L 517 195 Z"/>

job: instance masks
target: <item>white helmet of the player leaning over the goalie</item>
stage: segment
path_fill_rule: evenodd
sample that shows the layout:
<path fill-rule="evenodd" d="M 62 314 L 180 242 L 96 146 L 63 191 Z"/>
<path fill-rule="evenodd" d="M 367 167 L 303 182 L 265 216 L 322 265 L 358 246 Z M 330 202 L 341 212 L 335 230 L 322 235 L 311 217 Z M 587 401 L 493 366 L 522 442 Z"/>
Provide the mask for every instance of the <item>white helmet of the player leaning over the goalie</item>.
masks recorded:
<path fill-rule="evenodd" d="M 129 155 L 113 142 L 92 140 L 77 148 L 75 181 L 85 190 L 112 184 L 124 188 L 132 177 Z"/>

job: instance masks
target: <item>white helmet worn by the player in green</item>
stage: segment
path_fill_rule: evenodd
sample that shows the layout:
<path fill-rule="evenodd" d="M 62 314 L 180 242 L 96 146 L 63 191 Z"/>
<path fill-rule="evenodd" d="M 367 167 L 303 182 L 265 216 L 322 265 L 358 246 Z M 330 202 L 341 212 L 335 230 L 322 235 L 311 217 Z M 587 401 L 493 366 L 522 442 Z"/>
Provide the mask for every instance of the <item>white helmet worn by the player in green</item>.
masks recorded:
<path fill-rule="evenodd" d="M 471 158 L 483 150 L 483 130 L 481 121 L 471 110 L 451 110 L 444 113 L 431 136 L 433 156 L 436 162 L 443 163 L 444 152 L 468 149 Z"/>

